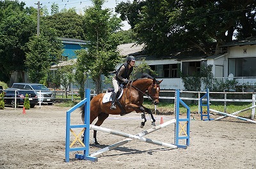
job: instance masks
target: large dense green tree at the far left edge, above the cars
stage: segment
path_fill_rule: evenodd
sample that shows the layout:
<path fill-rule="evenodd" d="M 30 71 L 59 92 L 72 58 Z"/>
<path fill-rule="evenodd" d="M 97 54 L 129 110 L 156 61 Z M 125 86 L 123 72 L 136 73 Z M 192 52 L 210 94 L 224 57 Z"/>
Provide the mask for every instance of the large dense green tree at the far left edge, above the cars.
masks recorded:
<path fill-rule="evenodd" d="M 0 1 L 0 80 L 24 72 L 26 43 L 36 33 L 36 10 L 18 1 Z"/>

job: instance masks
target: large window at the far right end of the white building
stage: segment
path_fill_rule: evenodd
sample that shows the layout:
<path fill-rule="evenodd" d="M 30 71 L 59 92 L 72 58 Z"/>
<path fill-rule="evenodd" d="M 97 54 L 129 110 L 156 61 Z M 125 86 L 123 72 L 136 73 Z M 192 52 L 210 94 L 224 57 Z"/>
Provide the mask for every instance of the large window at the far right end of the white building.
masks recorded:
<path fill-rule="evenodd" d="M 228 74 L 235 77 L 256 77 L 256 57 L 228 59 Z"/>

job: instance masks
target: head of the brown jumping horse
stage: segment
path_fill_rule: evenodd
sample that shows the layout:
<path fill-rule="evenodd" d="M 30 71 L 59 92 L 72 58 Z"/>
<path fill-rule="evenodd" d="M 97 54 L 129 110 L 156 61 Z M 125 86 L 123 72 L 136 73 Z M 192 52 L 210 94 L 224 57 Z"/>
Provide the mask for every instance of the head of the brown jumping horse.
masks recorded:
<path fill-rule="evenodd" d="M 154 105 L 157 105 L 159 103 L 159 92 L 160 92 L 160 84 L 163 80 L 156 80 L 156 78 L 152 79 L 152 85 L 148 87 L 148 94 L 152 98 L 152 103 Z"/>

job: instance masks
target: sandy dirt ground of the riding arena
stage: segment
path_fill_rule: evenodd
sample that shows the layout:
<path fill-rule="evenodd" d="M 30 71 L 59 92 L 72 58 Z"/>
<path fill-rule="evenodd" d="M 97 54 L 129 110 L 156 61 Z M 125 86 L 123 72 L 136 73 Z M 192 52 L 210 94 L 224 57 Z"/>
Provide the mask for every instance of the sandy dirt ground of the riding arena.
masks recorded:
<path fill-rule="evenodd" d="M 22 108 L 0 110 L 0 168 L 256 168 L 256 124 L 234 119 L 200 121 L 198 114 L 192 114 L 195 120 L 191 121 L 188 149 L 168 149 L 132 140 L 101 154 L 97 162 L 75 159 L 77 152 L 70 152 L 70 162 L 65 163 L 68 109 L 43 105 L 26 110 L 26 114 L 22 114 Z M 174 118 L 155 117 L 157 124 L 161 117 L 164 122 Z M 72 124 L 82 123 L 79 111 L 73 112 L 71 118 Z M 102 127 L 136 134 L 143 131 L 140 122 L 140 114 L 136 113 L 110 115 Z M 149 128 L 150 121 L 145 125 L 145 129 Z M 174 143 L 174 125 L 145 138 Z M 100 145 L 90 144 L 90 152 L 124 139 L 98 131 Z"/>

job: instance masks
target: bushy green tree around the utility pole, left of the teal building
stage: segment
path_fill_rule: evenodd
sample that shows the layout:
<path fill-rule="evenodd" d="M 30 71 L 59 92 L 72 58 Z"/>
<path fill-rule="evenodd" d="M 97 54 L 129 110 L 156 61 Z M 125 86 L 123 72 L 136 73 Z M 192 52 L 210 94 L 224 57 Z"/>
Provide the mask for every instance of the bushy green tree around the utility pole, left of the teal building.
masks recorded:
<path fill-rule="evenodd" d="M 40 82 L 47 76 L 50 66 L 60 60 L 62 44 L 53 29 L 42 29 L 40 36 L 33 36 L 26 53 L 26 66 L 30 82 Z"/>

